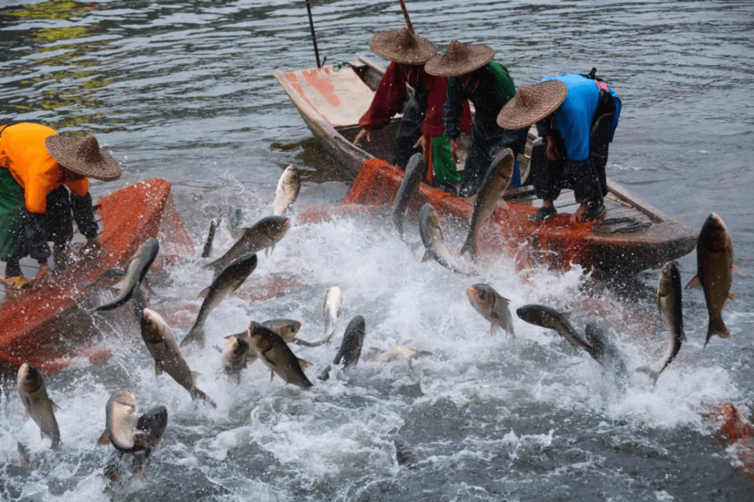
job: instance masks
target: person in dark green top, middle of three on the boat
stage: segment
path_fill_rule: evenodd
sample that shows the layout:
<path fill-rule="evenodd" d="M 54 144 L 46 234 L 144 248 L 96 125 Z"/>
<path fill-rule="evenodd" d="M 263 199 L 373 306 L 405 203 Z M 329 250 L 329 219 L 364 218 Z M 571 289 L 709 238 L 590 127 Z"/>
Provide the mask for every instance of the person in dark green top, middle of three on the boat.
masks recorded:
<path fill-rule="evenodd" d="M 464 45 L 453 40 L 448 50 L 436 54 L 425 65 L 430 75 L 448 77 L 445 102 L 445 134 L 450 138 L 450 151 L 458 157 L 458 137 L 461 131 L 461 105 L 467 99 L 474 104 L 474 122 L 461 180 L 461 196 L 471 196 L 481 190 L 482 182 L 492 159 L 500 151 L 510 148 L 517 157 L 526 145 L 528 129 L 507 130 L 495 122 L 500 109 L 516 94 L 513 79 L 507 69 L 493 62 L 495 50 L 486 45 Z M 516 161 L 511 187 L 520 187 L 521 175 Z"/>

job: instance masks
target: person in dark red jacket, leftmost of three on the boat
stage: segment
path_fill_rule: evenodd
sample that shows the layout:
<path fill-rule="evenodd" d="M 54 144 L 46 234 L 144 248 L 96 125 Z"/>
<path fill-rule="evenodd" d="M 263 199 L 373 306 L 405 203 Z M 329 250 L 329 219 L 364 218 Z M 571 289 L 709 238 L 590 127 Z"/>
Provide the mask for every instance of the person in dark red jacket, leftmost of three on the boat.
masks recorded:
<path fill-rule="evenodd" d="M 421 38 L 407 28 L 394 32 L 377 32 L 369 41 L 372 52 L 391 61 L 377 87 L 369 109 L 359 120 L 361 130 L 354 138 L 354 145 L 366 137 L 372 139 L 372 131 L 385 126 L 395 114 L 403 110 L 395 137 L 393 164 L 406 169 L 406 164 L 416 149 L 428 161 L 437 186 L 455 191 L 461 181 L 455 160 L 450 152 L 450 143 L 443 135 L 443 103 L 445 102 L 446 78 L 428 75 L 424 64 L 437 53 L 431 41 Z M 413 88 L 409 93 L 407 85 Z M 471 111 L 468 102 L 463 103 L 460 129 L 470 132 Z"/>

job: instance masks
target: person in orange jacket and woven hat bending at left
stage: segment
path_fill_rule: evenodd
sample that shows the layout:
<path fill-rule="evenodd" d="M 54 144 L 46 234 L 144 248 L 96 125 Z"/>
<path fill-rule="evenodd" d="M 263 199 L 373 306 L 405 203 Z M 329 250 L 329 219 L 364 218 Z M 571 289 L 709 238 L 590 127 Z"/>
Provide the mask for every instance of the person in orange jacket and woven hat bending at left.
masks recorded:
<path fill-rule="evenodd" d="M 0 260 L 11 286 L 29 284 L 19 265 L 27 255 L 39 263 L 32 283 L 47 275 L 48 240 L 54 243 L 55 272 L 65 268 L 71 215 L 87 238 L 81 253 L 100 250 L 87 178 L 112 181 L 120 175 L 121 166 L 93 135 L 58 135 L 38 123 L 0 125 Z"/>

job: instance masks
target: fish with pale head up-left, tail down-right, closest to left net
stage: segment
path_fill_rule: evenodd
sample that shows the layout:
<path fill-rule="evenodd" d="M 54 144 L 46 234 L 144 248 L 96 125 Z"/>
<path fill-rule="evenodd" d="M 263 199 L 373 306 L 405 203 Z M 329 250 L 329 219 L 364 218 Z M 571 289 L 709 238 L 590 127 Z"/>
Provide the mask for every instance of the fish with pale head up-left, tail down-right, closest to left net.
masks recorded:
<path fill-rule="evenodd" d="M 178 384 L 189 391 L 192 399 L 202 399 L 213 406 L 213 400 L 196 387 L 197 373 L 189 368 L 178 347 L 173 331 L 158 312 L 144 309 L 141 318 L 141 335 L 149 354 L 155 360 L 155 375 L 164 371 Z"/>

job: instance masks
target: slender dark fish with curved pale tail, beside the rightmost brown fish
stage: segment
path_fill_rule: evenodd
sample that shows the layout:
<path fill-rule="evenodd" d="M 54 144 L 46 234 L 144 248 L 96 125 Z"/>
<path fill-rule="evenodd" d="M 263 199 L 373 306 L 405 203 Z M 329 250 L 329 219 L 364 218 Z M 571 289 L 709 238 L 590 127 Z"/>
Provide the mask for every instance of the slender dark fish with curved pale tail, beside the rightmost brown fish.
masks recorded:
<path fill-rule="evenodd" d="M 681 343 L 686 340 L 681 295 L 681 272 L 675 262 L 669 261 L 664 264 L 657 278 L 657 310 L 660 311 L 663 326 L 670 332 L 670 344 L 660 361 L 650 367 L 636 368 L 636 371 L 647 373 L 654 383 L 657 383 L 657 377 L 673 361 L 681 350 Z"/>

